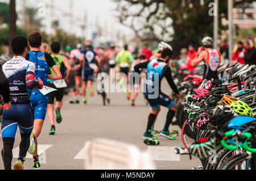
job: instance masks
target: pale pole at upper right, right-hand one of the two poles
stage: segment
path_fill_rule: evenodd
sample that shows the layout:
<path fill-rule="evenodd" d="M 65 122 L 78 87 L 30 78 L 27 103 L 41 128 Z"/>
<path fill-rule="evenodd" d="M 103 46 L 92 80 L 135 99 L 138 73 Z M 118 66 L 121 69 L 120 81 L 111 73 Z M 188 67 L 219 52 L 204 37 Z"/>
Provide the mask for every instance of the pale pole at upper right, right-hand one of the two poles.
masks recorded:
<path fill-rule="evenodd" d="M 229 18 L 229 61 L 233 53 L 233 0 L 228 0 L 228 18 Z"/>

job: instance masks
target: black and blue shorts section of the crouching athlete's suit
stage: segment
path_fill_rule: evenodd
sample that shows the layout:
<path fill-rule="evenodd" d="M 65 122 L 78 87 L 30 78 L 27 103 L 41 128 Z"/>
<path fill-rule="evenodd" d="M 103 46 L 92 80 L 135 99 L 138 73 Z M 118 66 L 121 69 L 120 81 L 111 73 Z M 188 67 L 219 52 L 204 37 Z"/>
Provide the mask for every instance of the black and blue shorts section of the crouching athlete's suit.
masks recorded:
<path fill-rule="evenodd" d="M 174 106 L 174 100 L 172 100 L 168 95 L 164 94 L 163 92 L 160 92 L 158 98 L 156 99 L 148 98 L 148 93 L 144 93 L 144 97 L 147 99 L 147 102 L 148 104 L 150 104 L 152 110 L 155 110 L 159 106 L 164 106 L 168 109 Z"/>

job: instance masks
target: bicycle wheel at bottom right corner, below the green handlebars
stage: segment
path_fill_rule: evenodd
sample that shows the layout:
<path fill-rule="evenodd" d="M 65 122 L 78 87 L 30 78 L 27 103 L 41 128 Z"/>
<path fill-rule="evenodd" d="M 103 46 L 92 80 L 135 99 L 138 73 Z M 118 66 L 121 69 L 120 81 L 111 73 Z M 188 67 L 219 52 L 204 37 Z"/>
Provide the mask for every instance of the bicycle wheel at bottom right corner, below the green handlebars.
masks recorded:
<path fill-rule="evenodd" d="M 226 162 L 222 163 L 220 166 L 220 170 L 246 170 L 250 169 L 250 163 L 247 157 L 249 154 L 241 153 L 234 155 L 226 160 Z"/>

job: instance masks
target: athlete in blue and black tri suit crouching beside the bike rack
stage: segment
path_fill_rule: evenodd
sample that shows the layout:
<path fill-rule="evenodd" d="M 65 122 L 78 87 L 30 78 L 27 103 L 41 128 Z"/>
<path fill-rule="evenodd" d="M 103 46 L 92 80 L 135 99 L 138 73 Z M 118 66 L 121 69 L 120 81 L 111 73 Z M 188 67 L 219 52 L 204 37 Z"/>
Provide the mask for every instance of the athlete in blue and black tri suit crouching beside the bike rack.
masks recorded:
<path fill-rule="evenodd" d="M 147 69 L 146 75 L 146 90 L 144 91 L 144 97 L 150 104 L 150 115 L 148 116 L 148 124 L 146 132 L 143 138 L 157 138 L 151 133 L 152 124 L 154 123 L 158 113 L 160 111 L 160 106 L 167 107 L 169 109 L 166 117 L 166 124 L 161 136 L 167 137 L 170 140 L 175 140 L 175 137 L 170 133 L 169 126 L 175 115 L 176 105 L 174 101 L 161 91 L 161 81 L 166 77 L 168 84 L 172 90 L 177 94 L 180 99 L 183 99 L 183 95 L 177 90 L 177 87 L 171 76 L 171 69 L 168 66 L 168 61 L 172 56 L 172 49 L 165 48 L 162 50 L 159 60 L 151 60 L 143 62 L 134 66 L 134 70 L 140 73 L 140 69 Z M 157 86 L 158 85 L 158 86 Z M 157 87 L 156 87 L 157 86 Z"/>

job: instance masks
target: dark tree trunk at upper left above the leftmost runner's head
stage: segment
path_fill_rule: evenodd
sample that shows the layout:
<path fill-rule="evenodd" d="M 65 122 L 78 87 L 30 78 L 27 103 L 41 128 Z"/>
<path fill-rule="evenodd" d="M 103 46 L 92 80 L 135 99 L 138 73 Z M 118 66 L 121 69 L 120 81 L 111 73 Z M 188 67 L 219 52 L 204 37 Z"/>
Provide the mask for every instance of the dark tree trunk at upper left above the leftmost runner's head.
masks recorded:
<path fill-rule="evenodd" d="M 9 45 L 14 36 L 16 36 L 16 10 L 15 10 L 15 0 L 10 0 L 9 5 Z M 13 51 L 10 49 L 10 54 L 13 54 Z"/>

